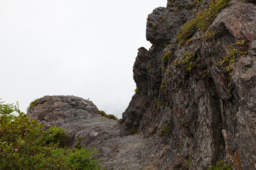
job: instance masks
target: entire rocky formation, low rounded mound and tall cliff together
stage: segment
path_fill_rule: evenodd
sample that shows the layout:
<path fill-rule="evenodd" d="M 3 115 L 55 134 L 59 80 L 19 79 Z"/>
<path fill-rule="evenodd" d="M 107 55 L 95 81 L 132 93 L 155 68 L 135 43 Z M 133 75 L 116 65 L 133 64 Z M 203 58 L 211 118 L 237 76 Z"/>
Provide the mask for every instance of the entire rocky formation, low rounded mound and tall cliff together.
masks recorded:
<path fill-rule="evenodd" d="M 71 96 L 46 96 L 28 113 L 99 149 L 107 169 L 207 169 L 223 159 L 256 169 L 255 4 L 169 0 L 149 14 L 152 47 L 139 48 L 137 94 L 119 123 Z"/>

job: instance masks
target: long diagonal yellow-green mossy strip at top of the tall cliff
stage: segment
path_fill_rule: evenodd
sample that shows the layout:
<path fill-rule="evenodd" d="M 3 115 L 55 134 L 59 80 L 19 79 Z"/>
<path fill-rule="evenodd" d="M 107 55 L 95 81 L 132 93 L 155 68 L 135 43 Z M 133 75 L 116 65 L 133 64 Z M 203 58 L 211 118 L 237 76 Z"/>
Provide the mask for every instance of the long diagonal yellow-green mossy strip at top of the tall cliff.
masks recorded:
<path fill-rule="evenodd" d="M 218 13 L 227 6 L 230 0 L 216 0 L 215 3 L 210 4 L 210 7 L 205 11 L 198 12 L 196 18 L 193 18 L 190 22 L 183 26 L 183 30 L 177 36 L 179 44 L 183 44 L 185 40 L 192 38 L 198 29 L 207 30 L 210 24 L 215 21 Z"/>

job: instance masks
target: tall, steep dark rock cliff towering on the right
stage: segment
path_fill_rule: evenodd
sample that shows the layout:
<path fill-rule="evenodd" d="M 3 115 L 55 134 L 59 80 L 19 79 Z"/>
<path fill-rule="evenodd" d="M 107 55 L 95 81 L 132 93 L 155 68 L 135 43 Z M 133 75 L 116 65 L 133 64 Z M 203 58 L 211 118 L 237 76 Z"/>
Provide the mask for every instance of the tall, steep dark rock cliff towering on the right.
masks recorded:
<path fill-rule="evenodd" d="M 170 149 L 154 157 L 154 169 L 206 169 L 222 159 L 234 169 L 256 169 L 256 6 L 230 1 L 206 30 L 197 28 L 178 45 L 198 6 L 207 11 L 209 1 L 170 0 L 149 14 L 146 38 L 153 46 L 139 50 L 134 63 L 134 80 L 143 90 L 123 113 L 122 128 L 158 137 L 155 146 Z"/>

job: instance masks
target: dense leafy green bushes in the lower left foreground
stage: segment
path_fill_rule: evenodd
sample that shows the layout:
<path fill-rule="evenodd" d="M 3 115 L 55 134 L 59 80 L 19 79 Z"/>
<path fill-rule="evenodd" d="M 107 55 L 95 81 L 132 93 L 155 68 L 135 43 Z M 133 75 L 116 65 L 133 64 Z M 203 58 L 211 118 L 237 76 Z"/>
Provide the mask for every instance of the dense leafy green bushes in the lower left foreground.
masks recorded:
<path fill-rule="evenodd" d="M 0 102 L 0 113 L 0 169 L 100 169 L 94 150 L 63 148 L 64 130 L 44 131 L 12 104 Z"/>

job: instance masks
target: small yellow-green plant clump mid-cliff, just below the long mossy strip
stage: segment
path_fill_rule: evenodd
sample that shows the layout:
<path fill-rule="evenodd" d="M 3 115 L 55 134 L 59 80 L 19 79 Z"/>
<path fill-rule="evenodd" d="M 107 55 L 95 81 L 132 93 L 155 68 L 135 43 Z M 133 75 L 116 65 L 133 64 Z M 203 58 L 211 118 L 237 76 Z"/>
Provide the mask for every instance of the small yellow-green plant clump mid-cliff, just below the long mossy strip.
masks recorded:
<path fill-rule="evenodd" d="M 174 60 L 176 67 L 180 66 L 186 69 L 188 72 L 191 72 L 196 67 L 200 67 L 200 64 L 197 64 L 200 57 L 195 58 L 196 55 L 194 52 L 186 52 L 184 55 L 184 59 Z"/>

